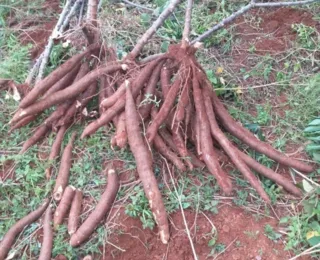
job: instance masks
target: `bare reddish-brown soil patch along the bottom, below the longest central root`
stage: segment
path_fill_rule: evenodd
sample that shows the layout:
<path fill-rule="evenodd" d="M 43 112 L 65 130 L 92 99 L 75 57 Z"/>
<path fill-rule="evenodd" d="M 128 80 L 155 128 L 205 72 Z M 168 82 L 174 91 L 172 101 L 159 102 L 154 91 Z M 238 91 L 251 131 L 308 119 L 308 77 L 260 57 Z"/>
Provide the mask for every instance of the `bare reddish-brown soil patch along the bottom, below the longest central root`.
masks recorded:
<path fill-rule="evenodd" d="M 192 211 L 185 211 L 195 250 L 200 260 L 207 259 L 211 248 L 208 246 L 212 238 L 212 225 L 207 218 Z M 265 225 L 276 228 L 278 221 L 273 218 L 255 218 L 244 210 L 223 205 L 217 215 L 206 213 L 206 216 L 215 225 L 218 232 L 218 243 L 227 248 L 217 259 L 289 259 L 290 254 L 284 250 L 283 241 L 277 243 L 264 234 Z M 171 239 L 168 245 L 161 243 L 156 230 L 143 229 L 139 219 L 133 219 L 120 210 L 118 222 L 120 229 L 113 234 L 109 241 L 119 248 L 121 252 L 111 245 L 106 245 L 105 260 L 130 259 L 179 259 L 191 260 L 193 254 L 185 232 L 181 212 L 170 216 Z"/>

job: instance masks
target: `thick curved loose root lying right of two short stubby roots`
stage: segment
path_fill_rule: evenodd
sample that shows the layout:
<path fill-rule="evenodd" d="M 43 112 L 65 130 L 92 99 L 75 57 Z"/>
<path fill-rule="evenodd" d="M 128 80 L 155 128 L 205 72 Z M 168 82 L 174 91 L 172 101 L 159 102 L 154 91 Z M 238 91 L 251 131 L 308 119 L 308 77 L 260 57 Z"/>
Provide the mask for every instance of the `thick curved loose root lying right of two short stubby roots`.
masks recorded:
<path fill-rule="evenodd" d="M 82 223 L 78 230 L 71 236 L 70 245 L 77 247 L 85 242 L 97 228 L 102 219 L 111 209 L 112 204 L 117 196 L 120 182 L 118 174 L 114 169 L 108 171 L 108 183 L 105 192 L 102 194 L 96 208 L 89 217 Z"/>

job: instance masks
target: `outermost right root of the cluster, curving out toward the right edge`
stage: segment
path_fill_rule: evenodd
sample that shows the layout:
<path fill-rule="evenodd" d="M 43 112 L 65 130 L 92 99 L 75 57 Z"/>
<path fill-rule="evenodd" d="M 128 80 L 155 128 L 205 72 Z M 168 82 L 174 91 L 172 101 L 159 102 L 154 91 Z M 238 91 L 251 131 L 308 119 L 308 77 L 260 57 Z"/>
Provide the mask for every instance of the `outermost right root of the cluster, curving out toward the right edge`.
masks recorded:
<path fill-rule="evenodd" d="M 206 84 L 206 87 L 210 88 L 208 83 Z M 219 118 L 219 121 L 229 133 L 237 137 L 240 141 L 244 142 L 252 149 L 267 155 L 271 159 L 283 165 L 295 168 L 306 173 L 310 173 L 314 170 L 312 166 L 289 158 L 286 155 L 280 153 L 278 150 L 274 149 L 271 145 L 259 141 L 248 129 L 241 126 L 229 115 L 228 111 L 224 108 L 222 102 L 214 92 L 211 93 L 211 99 L 214 111 Z"/>

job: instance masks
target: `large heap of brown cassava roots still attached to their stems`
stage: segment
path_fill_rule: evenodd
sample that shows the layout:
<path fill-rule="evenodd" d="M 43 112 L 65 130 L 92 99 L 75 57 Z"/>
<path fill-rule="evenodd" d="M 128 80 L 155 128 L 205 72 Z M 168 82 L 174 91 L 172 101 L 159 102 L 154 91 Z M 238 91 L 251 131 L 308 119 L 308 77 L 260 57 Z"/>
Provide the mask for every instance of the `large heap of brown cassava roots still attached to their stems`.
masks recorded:
<path fill-rule="evenodd" d="M 199 44 L 191 45 L 184 37 L 181 44 L 169 46 L 166 53 L 144 62 L 137 61 L 143 45 L 178 3 L 178 0 L 172 1 L 132 52 L 121 61 L 117 60 L 113 49 L 100 43 L 95 26 L 86 27 L 91 44 L 36 83 L 22 99 L 10 122 L 13 131 L 51 109 L 52 113 L 24 143 L 20 153 L 53 131 L 56 132 L 56 139 L 49 159 L 54 161 L 59 157 L 68 127 L 76 122 L 86 122 L 82 119 L 87 118 L 89 113 L 87 105 L 98 96 L 97 119 L 85 127 L 81 138 L 93 135 L 101 127 L 114 125 L 116 132 L 112 146 L 124 148 L 129 145 L 163 243 L 167 243 L 170 237 L 169 224 L 153 173 L 152 151 L 159 152 L 180 171 L 206 167 L 216 178 L 222 192 L 231 194 L 232 181 L 219 164 L 218 150 L 223 150 L 266 203 L 270 203 L 270 199 L 252 170 L 293 195 L 300 196 L 301 190 L 289 179 L 239 150 L 225 132 L 284 166 L 305 173 L 313 171 L 312 166 L 289 158 L 258 140 L 230 116 L 195 57 Z M 190 14 L 186 15 L 188 20 L 190 27 Z M 184 36 L 188 35 L 188 31 L 190 28 L 186 22 Z M 63 154 L 61 165 L 70 168 L 70 158 Z M 46 175 L 50 178 L 51 168 L 47 169 Z M 63 181 L 58 198 L 64 196 L 67 180 L 68 177 Z M 118 185 L 115 186 L 116 193 Z M 105 214 L 106 211 L 103 212 Z M 94 224 L 86 225 L 91 227 L 90 232 L 101 221 L 101 216 L 95 219 Z M 81 230 L 80 233 L 88 238 L 91 233 L 85 232 Z M 71 244 L 79 245 L 84 240 L 71 238 Z"/>

